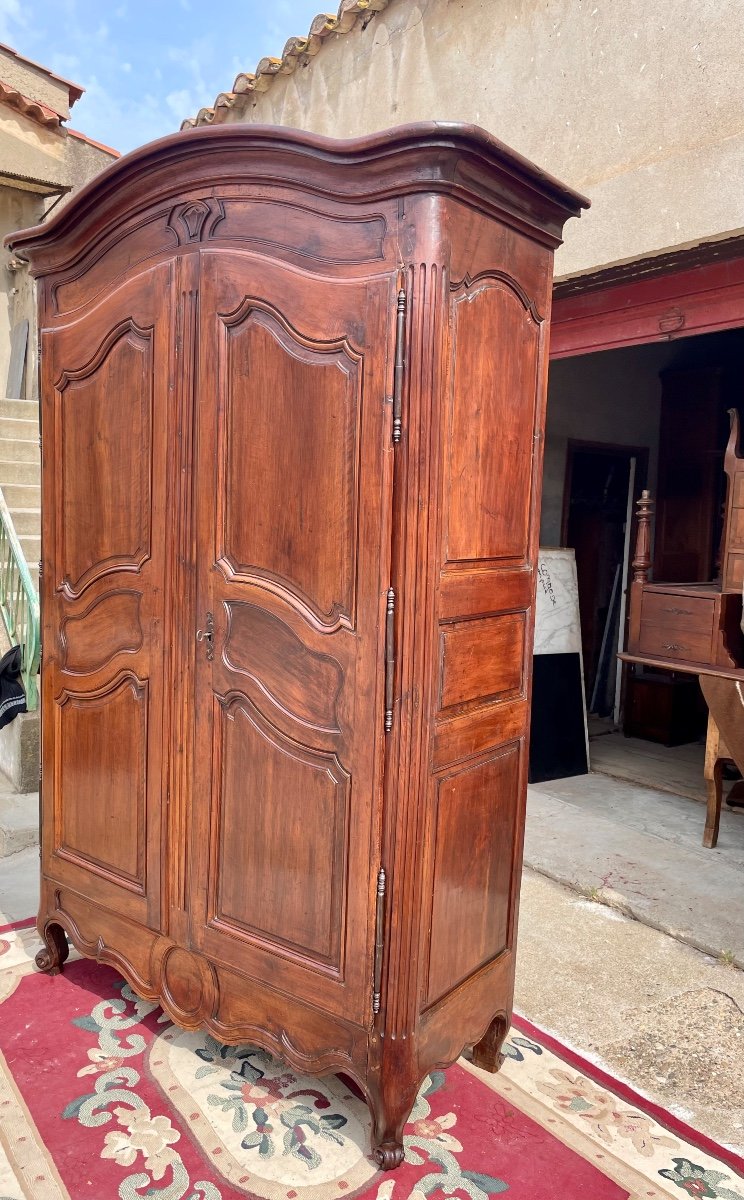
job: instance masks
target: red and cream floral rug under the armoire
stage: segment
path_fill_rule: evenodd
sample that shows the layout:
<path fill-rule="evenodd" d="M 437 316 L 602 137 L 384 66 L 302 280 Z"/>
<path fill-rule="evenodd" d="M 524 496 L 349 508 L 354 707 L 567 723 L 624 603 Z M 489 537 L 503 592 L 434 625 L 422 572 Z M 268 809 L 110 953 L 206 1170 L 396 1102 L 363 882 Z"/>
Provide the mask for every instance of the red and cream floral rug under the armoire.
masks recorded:
<path fill-rule="evenodd" d="M 0 929 L 0 1200 L 744 1200 L 744 1163 L 524 1021 L 488 1075 L 425 1082 L 406 1162 L 343 1078 L 185 1033 L 109 967 L 36 972 Z"/>

